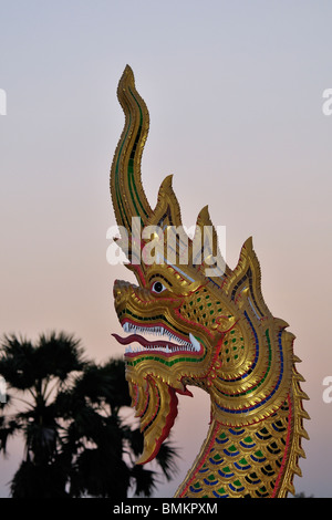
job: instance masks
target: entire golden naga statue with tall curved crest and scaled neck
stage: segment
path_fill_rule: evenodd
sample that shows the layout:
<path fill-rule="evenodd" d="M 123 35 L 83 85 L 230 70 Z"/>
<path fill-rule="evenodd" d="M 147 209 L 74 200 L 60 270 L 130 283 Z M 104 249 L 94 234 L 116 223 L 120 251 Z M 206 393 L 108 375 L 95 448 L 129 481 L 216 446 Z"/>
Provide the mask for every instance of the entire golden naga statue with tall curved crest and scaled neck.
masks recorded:
<path fill-rule="evenodd" d="M 194 385 L 210 396 L 210 424 L 175 497 L 294 493 L 293 476 L 301 476 L 299 458 L 305 457 L 302 438 L 309 438 L 302 406 L 308 396 L 295 368 L 294 335 L 263 300 L 252 240 L 231 270 L 222 262 L 207 207 L 190 238 L 172 176 L 151 208 L 141 176 L 149 115 L 129 66 L 117 96 L 125 125 L 112 164 L 111 195 L 117 246 L 137 284 L 114 283 L 116 313 L 128 334 L 114 336 L 126 345 L 126 379 L 144 434 L 137 464 L 156 456 L 174 425 L 177 394 L 193 396 L 188 387 Z"/>

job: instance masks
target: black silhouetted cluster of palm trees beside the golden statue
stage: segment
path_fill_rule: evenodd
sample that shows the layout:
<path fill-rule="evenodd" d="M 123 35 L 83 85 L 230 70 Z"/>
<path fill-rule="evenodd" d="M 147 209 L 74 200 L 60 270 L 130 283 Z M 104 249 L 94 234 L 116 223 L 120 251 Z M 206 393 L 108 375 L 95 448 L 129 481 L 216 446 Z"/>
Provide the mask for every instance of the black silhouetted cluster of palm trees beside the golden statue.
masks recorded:
<path fill-rule="evenodd" d="M 131 404 L 125 364 L 97 365 L 79 340 L 63 332 L 41 334 L 33 344 L 14 335 L 1 345 L 0 451 L 21 434 L 23 460 L 10 483 L 13 498 L 149 497 L 159 472 L 176 471 L 176 449 L 164 443 L 157 471 L 135 466 L 143 450 L 138 427 L 127 424 Z"/>

